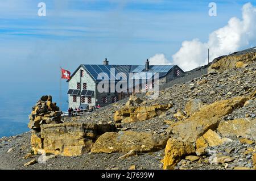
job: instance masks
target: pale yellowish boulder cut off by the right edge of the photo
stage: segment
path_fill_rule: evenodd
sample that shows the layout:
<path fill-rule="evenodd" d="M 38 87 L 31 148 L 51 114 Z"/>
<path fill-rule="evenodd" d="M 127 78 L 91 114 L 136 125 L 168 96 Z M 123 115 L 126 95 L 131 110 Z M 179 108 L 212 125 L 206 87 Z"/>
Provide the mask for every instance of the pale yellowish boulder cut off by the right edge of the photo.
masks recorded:
<path fill-rule="evenodd" d="M 217 128 L 222 136 L 242 136 L 244 138 L 256 139 L 256 119 L 249 120 L 246 118 L 221 121 Z"/>

